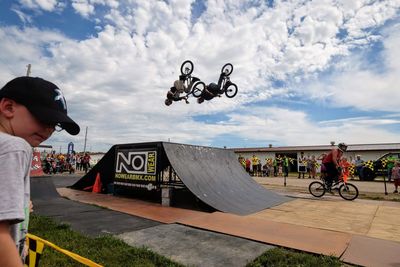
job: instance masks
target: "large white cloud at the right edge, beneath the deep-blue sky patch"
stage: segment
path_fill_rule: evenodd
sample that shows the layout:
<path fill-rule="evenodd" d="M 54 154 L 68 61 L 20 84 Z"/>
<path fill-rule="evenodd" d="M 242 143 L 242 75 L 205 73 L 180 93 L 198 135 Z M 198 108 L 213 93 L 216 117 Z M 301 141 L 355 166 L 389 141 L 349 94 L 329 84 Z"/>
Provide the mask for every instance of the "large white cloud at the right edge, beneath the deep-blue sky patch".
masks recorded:
<path fill-rule="evenodd" d="M 400 99 L 400 27 L 398 24 L 383 32 L 384 50 L 376 70 L 368 58 L 359 54 L 349 57 L 344 71 L 329 80 L 319 80 L 309 85 L 313 97 L 329 100 L 339 107 L 360 110 L 395 111 Z M 375 64 L 377 64 L 375 62 Z M 369 68 L 371 67 L 371 68 Z"/>

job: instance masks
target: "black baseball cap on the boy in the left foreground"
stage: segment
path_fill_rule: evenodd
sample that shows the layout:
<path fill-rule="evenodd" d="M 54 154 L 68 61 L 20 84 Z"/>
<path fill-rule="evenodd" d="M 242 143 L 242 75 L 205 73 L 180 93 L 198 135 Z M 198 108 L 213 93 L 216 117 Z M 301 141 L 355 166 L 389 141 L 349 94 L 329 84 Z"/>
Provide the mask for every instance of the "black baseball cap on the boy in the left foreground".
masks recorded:
<path fill-rule="evenodd" d="M 80 131 L 79 125 L 68 117 L 65 98 L 54 83 L 38 77 L 18 77 L 0 90 L 0 99 L 3 97 L 24 105 L 42 123 L 59 124 L 72 135 Z"/>

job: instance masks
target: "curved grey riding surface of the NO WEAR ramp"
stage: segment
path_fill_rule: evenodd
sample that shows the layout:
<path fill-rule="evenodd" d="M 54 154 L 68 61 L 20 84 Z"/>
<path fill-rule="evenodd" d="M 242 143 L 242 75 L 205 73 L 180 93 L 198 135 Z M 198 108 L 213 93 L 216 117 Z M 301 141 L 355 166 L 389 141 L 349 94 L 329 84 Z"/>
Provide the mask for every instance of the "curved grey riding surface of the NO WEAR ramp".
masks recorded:
<path fill-rule="evenodd" d="M 290 200 L 255 182 L 230 150 L 173 143 L 163 146 L 182 182 L 217 210 L 247 215 Z"/>

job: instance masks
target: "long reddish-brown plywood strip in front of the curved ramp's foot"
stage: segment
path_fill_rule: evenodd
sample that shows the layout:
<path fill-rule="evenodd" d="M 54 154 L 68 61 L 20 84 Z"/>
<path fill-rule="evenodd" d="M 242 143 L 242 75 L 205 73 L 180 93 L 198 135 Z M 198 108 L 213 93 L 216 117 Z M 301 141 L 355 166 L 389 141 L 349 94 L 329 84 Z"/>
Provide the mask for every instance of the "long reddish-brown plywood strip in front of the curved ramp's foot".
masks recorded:
<path fill-rule="evenodd" d="M 351 238 L 347 233 L 221 212 L 188 218 L 181 220 L 180 223 L 263 243 L 337 257 L 346 250 Z"/>

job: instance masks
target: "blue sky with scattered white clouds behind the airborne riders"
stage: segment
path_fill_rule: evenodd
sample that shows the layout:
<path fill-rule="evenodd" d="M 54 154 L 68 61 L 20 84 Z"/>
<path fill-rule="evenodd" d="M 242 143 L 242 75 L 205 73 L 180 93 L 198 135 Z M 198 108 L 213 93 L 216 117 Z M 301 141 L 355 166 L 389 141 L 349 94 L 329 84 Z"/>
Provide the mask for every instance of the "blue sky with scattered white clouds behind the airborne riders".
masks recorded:
<path fill-rule="evenodd" d="M 56 83 L 63 152 L 168 141 L 216 147 L 400 142 L 400 0 L 0 0 L 0 83 Z M 184 60 L 235 98 L 164 105 Z"/>

